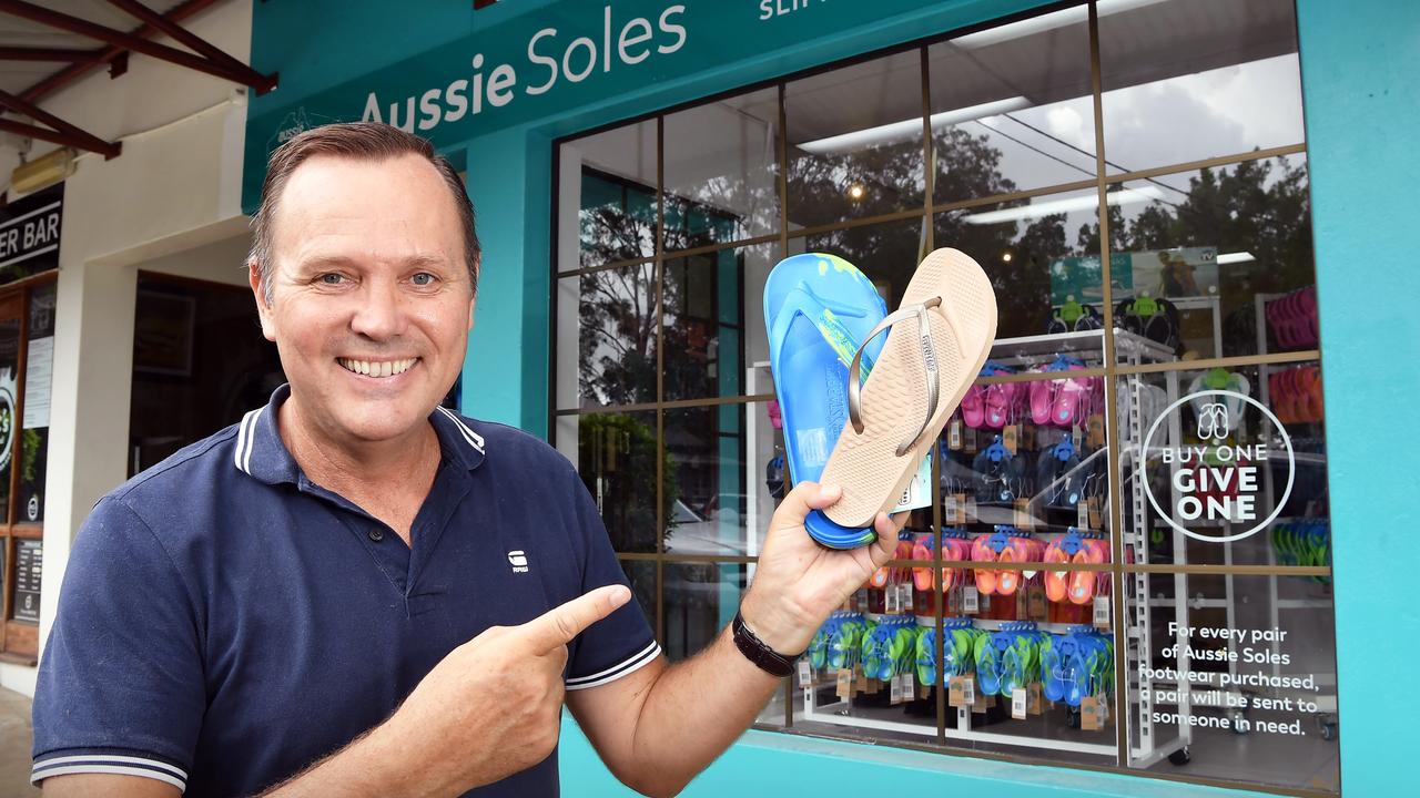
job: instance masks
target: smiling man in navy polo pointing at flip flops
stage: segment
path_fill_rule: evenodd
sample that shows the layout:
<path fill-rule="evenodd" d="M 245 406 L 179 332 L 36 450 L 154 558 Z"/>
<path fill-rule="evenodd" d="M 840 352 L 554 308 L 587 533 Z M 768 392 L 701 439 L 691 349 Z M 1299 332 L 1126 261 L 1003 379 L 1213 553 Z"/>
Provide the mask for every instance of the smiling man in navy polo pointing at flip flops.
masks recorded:
<path fill-rule="evenodd" d="M 439 408 L 473 325 L 459 176 L 376 124 L 271 156 L 248 263 L 288 385 L 104 497 L 34 701 L 47 795 L 555 795 L 565 703 L 602 760 L 683 788 L 896 547 L 775 513 L 737 618 L 670 666 L 571 464 Z M 480 375 L 498 379 L 498 375 Z"/>

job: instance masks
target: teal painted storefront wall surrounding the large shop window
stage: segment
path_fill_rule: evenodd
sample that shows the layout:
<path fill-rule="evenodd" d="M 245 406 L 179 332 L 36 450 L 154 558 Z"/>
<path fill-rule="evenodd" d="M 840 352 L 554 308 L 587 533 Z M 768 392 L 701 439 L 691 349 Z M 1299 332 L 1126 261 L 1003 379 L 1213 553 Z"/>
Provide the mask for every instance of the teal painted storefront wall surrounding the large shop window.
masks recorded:
<path fill-rule="evenodd" d="M 674 3 L 611 4 L 628 17 L 649 10 L 655 23 Z M 646 70 L 594 74 L 582 84 L 486 106 L 480 119 L 466 116 L 463 125 L 444 122 L 427 132 L 446 152 L 467 155 L 486 253 L 464 365 L 463 402 L 470 415 L 548 432 L 552 139 L 930 31 L 1047 6 L 1039 0 L 819 3 L 758 23 L 757 3 L 744 3 L 751 14 L 743 18 L 724 13 L 728 3 L 682 4 L 689 7 L 676 18 L 689 30 L 684 47 L 648 61 Z M 256 202 L 253 180 L 281 129 L 359 118 L 372 88 L 405 87 L 395 91 L 403 101 L 425 85 L 452 80 L 447 70 L 439 78 L 409 77 L 426 60 L 462 67 L 479 53 L 470 47 L 487 47 L 487 74 L 500 58 L 521 58 L 528 37 L 541 28 L 591 26 L 598 34 L 606 6 L 504 0 L 473 11 L 471 3 L 444 1 L 420 4 L 417 16 L 392 16 L 388 4 L 373 0 L 256 3 L 253 61 L 263 71 L 278 70 L 281 88 L 251 102 L 246 207 Z M 736 30 L 754 24 L 768 27 Z M 1298 24 L 1326 368 L 1342 780 L 1350 795 L 1403 794 L 1400 787 L 1413 781 L 1403 763 L 1416 720 L 1396 699 L 1410 692 L 1414 667 L 1407 663 L 1420 662 L 1420 602 L 1411 595 L 1411 558 L 1400 552 L 1410 551 L 1406 513 L 1420 497 L 1420 470 L 1404 464 L 1420 450 L 1420 432 L 1390 410 L 1420 396 L 1420 371 L 1406 368 L 1420 354 L 1420 317 L 1411 298 L 1420 297 L 1420 270 L 1402 254 L 1414 248 L 1407 240 L 1416 229 L 1409 192 L 1420 185 L 1410 133 L 1420 129 L 1414 81 L 1420 4 L 1298 0 Z M 561 43 L 569 38 L 571 33 Z M 395 102 L 388 94 L 379 99 L 386 109 Z M 561 763 L 567 795 L 618 794 L 569 720 Z M 768 794 L 862 794 L 885 784 L 895 791 L 985 789 L 1001 798 L 1242 795 L 771 733 L 747 734 L 687 794 L 750 794 L 751 785 Z"/>

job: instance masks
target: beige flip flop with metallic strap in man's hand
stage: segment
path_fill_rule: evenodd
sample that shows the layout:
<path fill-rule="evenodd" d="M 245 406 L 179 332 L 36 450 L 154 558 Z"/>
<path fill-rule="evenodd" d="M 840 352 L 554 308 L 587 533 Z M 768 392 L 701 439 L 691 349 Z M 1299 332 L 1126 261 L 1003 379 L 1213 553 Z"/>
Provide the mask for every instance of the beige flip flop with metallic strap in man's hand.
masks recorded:
<path fill-rule="evenodd" d="M 882 355 L 859 389 L 863 346 L 889 328 Z M 843 488 L 838 503 L 824 510 L 829 520 L 870 528 L 878 513 L 897 504 L 985 364 L 993 341 L 995 293 L 985 271 L 960 250 L 929 254 L 907 284 L 902 307 L 873 328 L 848 368 L 851 423 L 819 477 Z"/>

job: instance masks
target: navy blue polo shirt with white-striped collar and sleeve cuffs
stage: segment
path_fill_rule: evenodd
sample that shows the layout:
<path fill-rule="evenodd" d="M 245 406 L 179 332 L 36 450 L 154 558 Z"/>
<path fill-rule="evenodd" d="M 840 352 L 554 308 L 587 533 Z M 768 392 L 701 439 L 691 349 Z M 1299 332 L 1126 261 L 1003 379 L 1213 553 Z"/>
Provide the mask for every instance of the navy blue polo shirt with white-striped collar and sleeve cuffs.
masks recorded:
<path fill-rule="evenodd" d="M 581 479 L 541 440 L 430 415 L 443 456 L 410 548 L 301 473 L 275 423 L 288 395 L 84 523 L 40 663 L 33 781 L 116 772 L 187 795 L 258 792 L 386 720 L 488 626 L 626 582 Z M 660 647 L 628 602 L 568 653 L 577 690 Z M 554 751 L 470 795 L 557 792 Z"/>

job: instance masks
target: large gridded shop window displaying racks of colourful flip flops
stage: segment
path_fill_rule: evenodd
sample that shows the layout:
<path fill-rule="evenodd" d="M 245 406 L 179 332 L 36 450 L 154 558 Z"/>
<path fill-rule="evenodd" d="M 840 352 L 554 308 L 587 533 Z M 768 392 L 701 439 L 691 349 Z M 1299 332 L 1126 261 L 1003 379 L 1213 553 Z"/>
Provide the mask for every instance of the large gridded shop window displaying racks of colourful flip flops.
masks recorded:
<path fill-rule="evenodd" d="M 920 545 L 760 724 L 1339 792 L 1294 14 L 1055 7 L 557 143 L 557 444 L 673 659 L 733 616 L 791 477 L 768 270 L 841 256 L 896 307 L 956 247 L 1000 324 Z M 893 625 L 920 649 L 882 669 Z"/>

